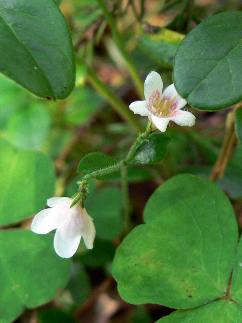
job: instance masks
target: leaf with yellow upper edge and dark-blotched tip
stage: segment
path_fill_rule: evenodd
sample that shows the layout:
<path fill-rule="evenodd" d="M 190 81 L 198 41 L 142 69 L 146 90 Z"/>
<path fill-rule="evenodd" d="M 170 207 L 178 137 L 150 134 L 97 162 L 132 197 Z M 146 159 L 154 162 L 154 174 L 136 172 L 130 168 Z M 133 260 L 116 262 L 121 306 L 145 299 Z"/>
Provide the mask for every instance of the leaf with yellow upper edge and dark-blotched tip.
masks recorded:
<path fill-rule="evenodd" d="M 136 32 L 139 47 L 154 61 L 173 67 L 176 49 L 185 35 L 143 24 Z"/>

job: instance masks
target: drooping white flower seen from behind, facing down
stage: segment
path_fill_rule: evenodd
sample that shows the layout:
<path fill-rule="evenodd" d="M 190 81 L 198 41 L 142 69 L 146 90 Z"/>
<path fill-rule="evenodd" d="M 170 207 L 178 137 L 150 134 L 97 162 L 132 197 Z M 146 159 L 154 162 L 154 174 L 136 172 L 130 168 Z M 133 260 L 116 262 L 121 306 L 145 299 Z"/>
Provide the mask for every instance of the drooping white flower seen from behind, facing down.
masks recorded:
<path fill-rule="evenodd" d="M 69 197 L 52 197 L 47 200 L 48 209 L 37 213 L 32 221 L 31 230 L 38 234 L 46 234 L 56 230 L 54 248 L 62 258 L 72 257 L 83 236 L 88 249 L 93 248 L 96 235 L 93 218 L 87 214 L 80 203 L 71 206 L 74 199 Z"/>

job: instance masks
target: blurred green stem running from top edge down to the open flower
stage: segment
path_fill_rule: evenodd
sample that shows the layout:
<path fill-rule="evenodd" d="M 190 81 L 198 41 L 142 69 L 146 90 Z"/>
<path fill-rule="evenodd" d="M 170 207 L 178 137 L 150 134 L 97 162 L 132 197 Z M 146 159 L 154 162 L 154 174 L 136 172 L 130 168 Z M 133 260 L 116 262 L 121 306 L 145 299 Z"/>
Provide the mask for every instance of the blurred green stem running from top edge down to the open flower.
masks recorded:
<path fill-rule="evenodd" d="M 117 26 L 116 26 L 116 22 L 114 20 L 114 17 L 113 15 L 110 13 L 107 5 L 106 5 L 106 2 L 105 0 L 97 0 L 97 2 L 99 3 L 100 7 L 103 9 L 103 12 L 106 16 L 106 19 L 107 19 L 107 22 L 112 30 L 112 34 L 113 34 L 113 37 L 114 37 L 114 40 L 117 44 L 117 46 L 119 47 L 119 50 L 121 51 L 125 61 L 126 61 L 126 64 L 127 64 L 127 67 L 128 67 L 128 70 L 129 70 L 129 73 L 130 75 L 132 76 L 133 80 L 134 80 L 134 83 L 135 83 L 135 86 L 136 86 L 136 89 L 140 95 L 141 98 L 144 97 L 144 85 L 143 85 L 143 81 L 141 80 L 140 76 L 139 76 L 139 73 L 129 55 L 129 53 L 127 52 L 126 50 L 126 47 L 125 47 L 125 43 L 117 29 Z"/>

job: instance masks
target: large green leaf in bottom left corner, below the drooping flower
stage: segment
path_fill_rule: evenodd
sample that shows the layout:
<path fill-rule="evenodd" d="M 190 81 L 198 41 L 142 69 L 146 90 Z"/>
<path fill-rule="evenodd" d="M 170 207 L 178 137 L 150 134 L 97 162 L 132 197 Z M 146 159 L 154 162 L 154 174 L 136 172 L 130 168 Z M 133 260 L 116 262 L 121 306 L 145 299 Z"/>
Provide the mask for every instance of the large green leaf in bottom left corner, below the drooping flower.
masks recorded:
<path fill-rule="evenodd" d="M 25 230 L 0 232 L 1 323 L 50 301 L 65 287 L 71 262 L 56 255 L 50 237 Z"/>

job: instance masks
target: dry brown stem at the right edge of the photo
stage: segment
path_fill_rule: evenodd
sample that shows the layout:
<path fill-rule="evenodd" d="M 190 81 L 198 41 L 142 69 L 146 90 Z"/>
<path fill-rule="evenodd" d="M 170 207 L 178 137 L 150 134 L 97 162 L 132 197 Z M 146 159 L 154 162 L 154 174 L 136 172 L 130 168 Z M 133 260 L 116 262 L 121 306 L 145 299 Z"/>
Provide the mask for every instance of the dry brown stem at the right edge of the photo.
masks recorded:
<path fill-rule="evenodd" d="M 217 161 L 213 167 L 209 179 L 216 182 L 217 178 L 223 178 L 227 164 L 236 148 L 237 137 L 235 133 L 235 114 L 236 110 L 241 107 L 242 102 L 237 103 L 228 120 L 227 130 L 224 136 L 222 147 L 220 149 Z"/>

